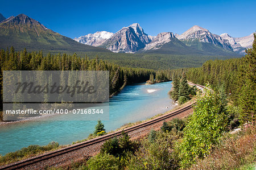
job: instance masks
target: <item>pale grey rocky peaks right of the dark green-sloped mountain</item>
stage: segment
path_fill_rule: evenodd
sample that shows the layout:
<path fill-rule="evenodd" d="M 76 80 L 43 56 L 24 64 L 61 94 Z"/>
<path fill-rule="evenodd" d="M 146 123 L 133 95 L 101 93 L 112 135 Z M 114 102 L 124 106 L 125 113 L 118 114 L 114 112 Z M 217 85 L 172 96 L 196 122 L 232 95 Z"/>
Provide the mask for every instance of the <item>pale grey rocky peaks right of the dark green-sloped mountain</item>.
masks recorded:
<path fill-rule="evenodd" d="M 134 23 L 123 27 L 115 34 L 101 31 L 74 40 L 113 52 L 243 55 L 246 48 L 252 47 L 253 34 L 243 38 L 232 38 L 228 34 L 216 35 L 205 28 L 193 26 L 181 35 L 162 32 L 157 36 L 150 36 L 138 23 Z"/>

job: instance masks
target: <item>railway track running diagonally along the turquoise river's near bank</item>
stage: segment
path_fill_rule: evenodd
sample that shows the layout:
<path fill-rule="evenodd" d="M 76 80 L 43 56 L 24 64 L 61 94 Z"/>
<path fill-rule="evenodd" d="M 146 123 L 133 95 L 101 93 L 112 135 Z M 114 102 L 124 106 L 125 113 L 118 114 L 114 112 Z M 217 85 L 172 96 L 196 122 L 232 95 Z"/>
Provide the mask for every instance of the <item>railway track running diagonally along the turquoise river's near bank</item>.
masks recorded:
<path fill-rule="evenodd" d="M 154 123 L 164 121 L 167 118 L 171 118 L 171 117 L 174 117 L 175 115 L 183 113 L 184 111 L 188 111 L 191 108 L 192 108 L 192 105 L 183 107 L 180 110 L 174 111 L 174 112 L 169 113 L 169 114 L 164 114 L 160 117 L 151 119 L 150 121 L 146 121 L 146 122 L 140 123 L 138 125 L 125 128 L 123 131 L 129 133 L 129 132 L 138 130 L 139 128 L 153 125 Z M 114 138 L 115 136 L 120 136 L 121 134 L 122 134 L 122 131 L 119 130 L 119 131 L 113 132 L 111 134 L 106 134 L 106 135 L 100 136 L 98 138 L 94 138 L 94 139 L 91 139 L 91 140 L 87 140 L 85 142 L 81 142 L 79 144 L 75 144 L 75 145 L 72 145 L 72 146 L 69 146 L 69 147 L 66 147 L 66 148 L 62 148 L 62 149 L 57 150 L 57 151 L 48 152 L 47 154 L 44 154 L 44 155 L 39 155 L 39 156 L 31 157 L 29 159 L 18 161 L 16 163 L 3 165 L 2 167 L 0 167 L 0 169 L 23 169 L 23 168 L 26 168 L 28 165 L 39 163 L 40 161 L 51 159 L 52 157 L 64 155 L 64 154 L 67 154 L 68 152 L 76 151 L 76 150 L 79 150 L 79 149 L 84 148 L 84 147 L 91 146 L 91 145 L 96 144 L 96 143 L 104 142 L 105 140 L 108 140 L 110 138 Z"/>

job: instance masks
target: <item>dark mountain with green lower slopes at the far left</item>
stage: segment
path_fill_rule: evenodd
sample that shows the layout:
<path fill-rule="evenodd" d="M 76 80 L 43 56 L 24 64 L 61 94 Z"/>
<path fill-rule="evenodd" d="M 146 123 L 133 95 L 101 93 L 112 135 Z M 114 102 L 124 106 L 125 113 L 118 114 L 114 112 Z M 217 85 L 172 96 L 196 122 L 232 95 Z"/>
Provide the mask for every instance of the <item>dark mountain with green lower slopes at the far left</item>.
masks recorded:
<path fill-rule="evenodd" d="M 110 52 L 108 49 L 93 47 L 54 32 L 24 14 L 7 19 L 0 15 L 0 48 L 13 46 L 17 50 L 59 51 L 59 52 Z"/>

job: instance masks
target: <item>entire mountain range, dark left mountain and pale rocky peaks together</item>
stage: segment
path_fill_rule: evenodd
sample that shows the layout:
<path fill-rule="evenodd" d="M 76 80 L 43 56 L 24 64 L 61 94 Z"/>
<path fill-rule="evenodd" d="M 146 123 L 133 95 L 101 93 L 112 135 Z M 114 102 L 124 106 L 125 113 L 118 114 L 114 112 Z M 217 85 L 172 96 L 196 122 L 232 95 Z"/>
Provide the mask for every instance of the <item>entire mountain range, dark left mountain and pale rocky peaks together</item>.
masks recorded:
<path fill-rule="evenodd" d="M 56 52 L 122 52 L 159 53 L 174 55 L 243 55 L 251 48 L 253 34 L 232 38 L 228 34 L 216 35 L 209 30 L 193 26 L 183 34 L 162 32 L 147 35 L 134 23 L 112 33 L 98 31 L 94 34 L 71 39 L 54 32 L 35 19 L 24 14 L 5 18 L 0 14 L 0 48 L 14 46 L 20 50 Z"/>

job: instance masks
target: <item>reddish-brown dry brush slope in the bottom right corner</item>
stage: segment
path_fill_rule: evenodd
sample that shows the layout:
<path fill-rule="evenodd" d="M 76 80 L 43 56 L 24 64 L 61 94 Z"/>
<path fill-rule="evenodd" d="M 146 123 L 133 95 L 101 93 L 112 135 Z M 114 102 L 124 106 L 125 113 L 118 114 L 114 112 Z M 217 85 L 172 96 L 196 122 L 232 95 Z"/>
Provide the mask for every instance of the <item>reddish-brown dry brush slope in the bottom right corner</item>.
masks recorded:
<path fill-rule="evenodd" d="M 210 155 L 197 160 L 191 169 L 255 169 L 255 127 L 237 134 L 226 133 Z"/>

